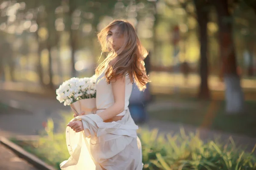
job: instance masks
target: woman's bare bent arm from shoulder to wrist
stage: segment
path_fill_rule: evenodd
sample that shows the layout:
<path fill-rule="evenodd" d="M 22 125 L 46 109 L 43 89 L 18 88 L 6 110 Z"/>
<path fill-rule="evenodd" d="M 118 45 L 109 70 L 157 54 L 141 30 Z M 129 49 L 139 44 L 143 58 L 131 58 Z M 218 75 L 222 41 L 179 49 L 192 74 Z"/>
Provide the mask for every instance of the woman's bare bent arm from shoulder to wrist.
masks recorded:
<path fill-rule="evenodd" d="M 97 113 L 97 115 L 100 116 L 103 121 L 115 117 L 124 111 L 125 108 L 125 77 L 117 77 L 116 80 L 111 81 L 111 85 L 114 96 L 114 104 L 104 111 Z"/>

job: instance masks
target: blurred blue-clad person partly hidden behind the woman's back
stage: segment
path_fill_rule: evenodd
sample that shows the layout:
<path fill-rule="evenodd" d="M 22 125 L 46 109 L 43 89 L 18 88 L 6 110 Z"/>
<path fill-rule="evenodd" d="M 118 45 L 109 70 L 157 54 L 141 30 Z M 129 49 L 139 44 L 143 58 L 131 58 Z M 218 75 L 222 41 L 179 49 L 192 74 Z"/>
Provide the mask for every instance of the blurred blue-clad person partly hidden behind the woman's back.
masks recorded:
<path fill-rule="evenodd" d="M 150 69 L 150 52 L 148 56 L 144 59 L 145 69 L 147 74 L 151 71 Z M 131 112 L 131 117 L 136 123 L 144 123 L 148 119 L 148 113 L 146 107 L 149 102 L 151 102 L 152 96 L 150 93 L 150 83 L 148 83 L 145 91 L 140 91 L 140 89 L 134 84 L 131 92 L 131 97 L 129 100 L 129 109 Z"/>

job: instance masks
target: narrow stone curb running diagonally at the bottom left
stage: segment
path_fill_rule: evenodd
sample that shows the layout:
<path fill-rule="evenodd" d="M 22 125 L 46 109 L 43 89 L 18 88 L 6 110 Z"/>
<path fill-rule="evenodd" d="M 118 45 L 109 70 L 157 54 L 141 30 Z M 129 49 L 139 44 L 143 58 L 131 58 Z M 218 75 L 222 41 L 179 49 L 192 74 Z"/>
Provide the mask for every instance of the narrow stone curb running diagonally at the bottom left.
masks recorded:
<path fill-rule="evenodd" d="M 22 147 L 18 146 L 17 144 L 14 144 L 5 137 L 0 136 L 0 144 L 3 144 L 4 146 L 8 147 L 12 151 L 14 151 L 17 154 L 17 156 L 19 156 L 22 159 L 25 159 L 39 170 L 56 170 L 54 167 L 46 164 L 44 161 L 32 155 L 31 153 L 28 153 Z"/>

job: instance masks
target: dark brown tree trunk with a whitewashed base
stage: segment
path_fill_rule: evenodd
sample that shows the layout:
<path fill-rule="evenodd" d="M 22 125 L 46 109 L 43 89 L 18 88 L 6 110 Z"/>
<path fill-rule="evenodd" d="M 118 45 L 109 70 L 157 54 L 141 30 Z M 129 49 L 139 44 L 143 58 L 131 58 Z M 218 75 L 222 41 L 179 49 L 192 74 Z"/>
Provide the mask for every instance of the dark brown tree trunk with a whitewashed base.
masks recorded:
<path fill-rule="evenodd" d="M 244 111 L 244 94 L 237 74 L 236 54 L 233 44 L 232 22 L 227 0 L 212 0 L 218 12 L 221 71 L 226 86 L 226 112 L 237 114 Z"/>

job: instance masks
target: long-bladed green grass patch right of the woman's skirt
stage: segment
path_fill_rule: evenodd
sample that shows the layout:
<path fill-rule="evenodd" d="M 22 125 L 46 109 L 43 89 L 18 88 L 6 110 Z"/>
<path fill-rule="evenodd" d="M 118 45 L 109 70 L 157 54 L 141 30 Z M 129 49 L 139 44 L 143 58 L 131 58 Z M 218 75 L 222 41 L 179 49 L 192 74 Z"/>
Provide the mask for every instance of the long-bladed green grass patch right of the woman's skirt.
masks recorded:
<path fill-rule="evenodd" d="M 238 150 L 233 144 L 204 143 L 198 134 L 157 136 L 157 130 L 140 130 L 145 170 L 254 170 L 252 153 Z M 157 136 L 157 137 L 156 137 Z"/>

